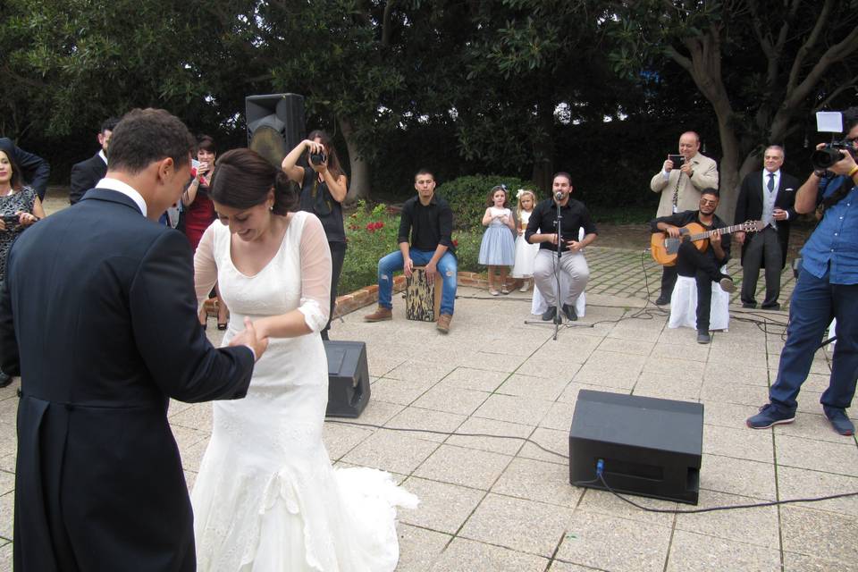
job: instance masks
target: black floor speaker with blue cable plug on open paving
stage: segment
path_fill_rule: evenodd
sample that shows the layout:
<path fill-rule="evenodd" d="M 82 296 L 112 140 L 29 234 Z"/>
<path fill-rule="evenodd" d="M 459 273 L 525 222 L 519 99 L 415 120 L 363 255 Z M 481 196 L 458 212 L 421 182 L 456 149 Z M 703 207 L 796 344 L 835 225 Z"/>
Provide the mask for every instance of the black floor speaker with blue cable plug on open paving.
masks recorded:
<path fill-rule="evenodd" d="M 697 504 L 703 405 L 581 390 L 569 430 L 569 483 Z"/>

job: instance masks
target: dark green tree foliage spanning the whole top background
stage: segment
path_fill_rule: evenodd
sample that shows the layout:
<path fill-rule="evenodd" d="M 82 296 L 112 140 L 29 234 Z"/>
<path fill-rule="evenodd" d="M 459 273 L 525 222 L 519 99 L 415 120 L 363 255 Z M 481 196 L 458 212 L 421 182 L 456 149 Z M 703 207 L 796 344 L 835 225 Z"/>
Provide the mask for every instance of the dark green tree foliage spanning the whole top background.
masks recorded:
<path fill-rule="evenodd" d="M 350 198 L 410 189 L 383 178 L 425 161 L 644 187 L 653 126 L 710 131 L 729 193 L 765 144 L 851 103 L 856 23 L 856 0 L 6 0 L 0 133 L 89 144 L 106 116 L 156 105 L 235 145 L 244 97 L 287 91 L 345 144 Z"/>

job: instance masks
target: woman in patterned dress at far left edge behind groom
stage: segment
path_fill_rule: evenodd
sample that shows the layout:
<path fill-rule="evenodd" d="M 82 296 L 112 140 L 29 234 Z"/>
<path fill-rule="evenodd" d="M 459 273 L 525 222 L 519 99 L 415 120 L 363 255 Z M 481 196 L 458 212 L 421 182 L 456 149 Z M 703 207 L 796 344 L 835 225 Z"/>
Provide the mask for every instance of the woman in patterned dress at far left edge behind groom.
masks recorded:
<path fill-rule="evenodd" d="M 21 183 L 21 169 L 0 151 L 0 284 L 6 278 L 6 258 L 18 235 L 45 216 L 36 191 Z M 12 377 L 0 371 L 0 387 L 12 383 Z"/>

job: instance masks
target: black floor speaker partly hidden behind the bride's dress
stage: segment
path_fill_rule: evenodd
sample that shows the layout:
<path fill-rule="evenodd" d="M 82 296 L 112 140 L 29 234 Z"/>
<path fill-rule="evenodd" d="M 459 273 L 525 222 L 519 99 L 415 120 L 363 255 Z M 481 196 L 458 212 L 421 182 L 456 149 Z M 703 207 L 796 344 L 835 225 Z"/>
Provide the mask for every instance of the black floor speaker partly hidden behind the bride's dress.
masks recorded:
<path fill-rule="evenodd" d="M 357 417 L 369 403 L 369 366 L 363 341 L 324 341 L 328 357 L 325 416 Z"/>

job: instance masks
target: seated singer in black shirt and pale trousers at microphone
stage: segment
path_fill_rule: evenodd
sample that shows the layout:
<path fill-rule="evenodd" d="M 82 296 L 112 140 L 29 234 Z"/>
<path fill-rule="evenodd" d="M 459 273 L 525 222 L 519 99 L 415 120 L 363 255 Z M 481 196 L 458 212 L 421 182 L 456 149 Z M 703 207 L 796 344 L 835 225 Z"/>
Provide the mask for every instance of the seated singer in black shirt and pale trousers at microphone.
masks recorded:
<path fill-rule="evenodd" d="M 525 231 L 525 240 L 539 244 L 534 262 L 534 284 L 543 294 L 548 309 L 543 320 L 548 322 L 557 316 L 558 272 L 569 276 L 561 310 L 569 321 L 575 321 L 575 300 L 584 291 L 590 280 L 590 268 L 581 249 L 596 240 L 596 225 L 584 203 L 569 197 L 572 194 L 572 177 L 568 172 L 558 172 L 551 184 L 551 198 L 543 200 L 530 215 Z M 560 206 L 561 224 L 557 228 L 557 206 Z M 581 229 L 585 236 L 578 240 Z M 559 260 L 557 252 L 560 252 Z"/>

